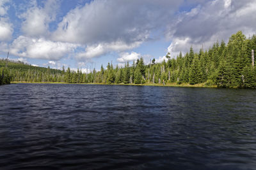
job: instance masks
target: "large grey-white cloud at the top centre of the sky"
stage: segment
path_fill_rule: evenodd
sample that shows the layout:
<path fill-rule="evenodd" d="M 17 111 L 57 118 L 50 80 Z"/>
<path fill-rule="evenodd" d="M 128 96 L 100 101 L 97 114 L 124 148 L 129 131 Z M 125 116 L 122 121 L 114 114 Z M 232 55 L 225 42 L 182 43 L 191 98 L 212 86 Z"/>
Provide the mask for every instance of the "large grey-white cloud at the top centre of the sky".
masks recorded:
<path fill-rule="evenodd" d="M 71 10 L 53 37 L 58 41 L 90 44 L 144 41 L 179 4 L 164 0 L 92 1 Z"/>

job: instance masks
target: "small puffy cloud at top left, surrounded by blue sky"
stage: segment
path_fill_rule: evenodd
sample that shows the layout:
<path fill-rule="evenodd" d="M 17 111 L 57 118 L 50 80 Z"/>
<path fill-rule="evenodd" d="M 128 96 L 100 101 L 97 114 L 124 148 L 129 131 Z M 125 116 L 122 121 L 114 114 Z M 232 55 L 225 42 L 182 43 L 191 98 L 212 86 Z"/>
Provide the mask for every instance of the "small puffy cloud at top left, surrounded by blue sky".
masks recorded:
<path fill-rule="evenodd" d="M 35 3 L 20 15 L 24 19 L 22 22 L 22 32 L 26 36 L 42 36 L 49 34 L 49 23 L 56 17 L 58 1 L 48 0 L 44 3 L 44 8 L 38 7 Z"/>

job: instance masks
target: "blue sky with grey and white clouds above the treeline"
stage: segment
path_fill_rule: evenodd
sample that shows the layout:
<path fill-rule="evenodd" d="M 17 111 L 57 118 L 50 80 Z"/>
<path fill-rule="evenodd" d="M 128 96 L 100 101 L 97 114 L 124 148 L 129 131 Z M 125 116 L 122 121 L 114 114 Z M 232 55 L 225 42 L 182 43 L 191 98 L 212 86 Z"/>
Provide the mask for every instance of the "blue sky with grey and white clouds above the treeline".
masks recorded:
<path fill-rule="evenodd" d="M 256 28 L 255 0 L 0 0 L 0 57 L 88 71 L 176 57 Z"/>

